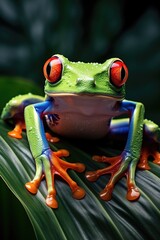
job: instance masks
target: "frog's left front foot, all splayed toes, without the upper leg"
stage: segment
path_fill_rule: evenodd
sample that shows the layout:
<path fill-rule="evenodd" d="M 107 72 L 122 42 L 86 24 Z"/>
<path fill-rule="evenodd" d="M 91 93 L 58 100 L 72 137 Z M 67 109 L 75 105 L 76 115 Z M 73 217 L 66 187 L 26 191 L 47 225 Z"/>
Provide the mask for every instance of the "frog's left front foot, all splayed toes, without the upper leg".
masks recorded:
<path fill-rule="evenodd" d="M 44 174 L 47 181 L 48 195 L 46 198 L 46 205 L 51 208 L 57 208 L 58 202 L 56 200 L 56 189 L 55 189 L 55 175 L 61 176 L 70 186 L 72 191 L 72 196 L 75 199 L 82 199 L 85 196 L 85 190 L 77 185 L 75 181 L 71 179 L 69 174 L 67 173 L 68 169 L 73 169 L 77 172 L 83 172 L 85 170 L 84 164 L 81 163 L 69 163 L 62 160 L 60 157 L 67 157 L 69 152 L 65 149 L 61 149 L 57 152 L 51 152 L 50 161 L 46 158 L 46 156 L 41 156 L 36 161 L 36 175 L 35 178 L 25 184 L 27 190 L 36 194 L 38 191 L 38 187 L 42 180 L 42 165 L 44 166 Z M 46 161 L 47 160 L 47 161 Z M 43 161 L 43 164 L 42 164 Z"/>

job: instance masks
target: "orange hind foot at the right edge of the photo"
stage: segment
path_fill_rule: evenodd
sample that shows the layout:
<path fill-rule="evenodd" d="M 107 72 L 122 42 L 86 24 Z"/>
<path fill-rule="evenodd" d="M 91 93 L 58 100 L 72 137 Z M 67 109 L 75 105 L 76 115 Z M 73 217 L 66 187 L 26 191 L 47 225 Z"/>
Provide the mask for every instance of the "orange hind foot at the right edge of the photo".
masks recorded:
<path fill-rule="evenodd" d="M 154 159 L 153 162 L 155 164 L 160 165 L 160 152 L 158 152 L 157 150 L 157 144 L 143 146 L 141 151 L 141 157 L 138 163 L 138 168 L 150 170 L 150 166 L 148 165 L 149 156 Z"/>

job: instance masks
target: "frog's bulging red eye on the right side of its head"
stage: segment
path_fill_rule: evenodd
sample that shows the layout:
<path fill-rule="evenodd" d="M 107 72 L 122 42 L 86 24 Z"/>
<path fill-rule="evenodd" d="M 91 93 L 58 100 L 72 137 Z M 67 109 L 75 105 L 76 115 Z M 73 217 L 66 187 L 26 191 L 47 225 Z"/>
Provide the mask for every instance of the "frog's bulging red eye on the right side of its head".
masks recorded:
<path fill-rule="evenodd" d="M 110 67 L 110 81 L 116 87 L 121 87 L 128 78 L 128 68 L 124 62 L 117 60 Z"/>

